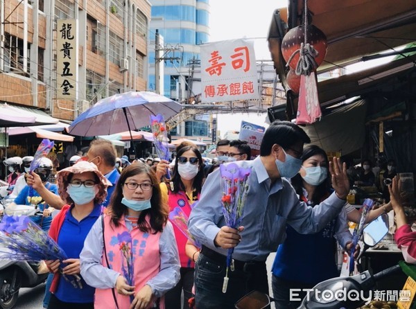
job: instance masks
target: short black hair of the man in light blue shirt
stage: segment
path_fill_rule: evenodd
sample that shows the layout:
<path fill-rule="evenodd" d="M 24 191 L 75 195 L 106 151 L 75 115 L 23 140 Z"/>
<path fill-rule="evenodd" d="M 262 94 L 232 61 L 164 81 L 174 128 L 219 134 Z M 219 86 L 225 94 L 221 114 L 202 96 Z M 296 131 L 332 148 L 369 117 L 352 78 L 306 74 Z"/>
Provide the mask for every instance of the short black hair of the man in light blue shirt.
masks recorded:
<path fill-rule="evenodd" d="M 272 145 L 277 144 L 286 149 L 299 142 L 311 143 L 311 139 L 301 127 L 290 121 L 273 121 L 264 133 L 260 155 L 268 156 L 272 152 Z"/>

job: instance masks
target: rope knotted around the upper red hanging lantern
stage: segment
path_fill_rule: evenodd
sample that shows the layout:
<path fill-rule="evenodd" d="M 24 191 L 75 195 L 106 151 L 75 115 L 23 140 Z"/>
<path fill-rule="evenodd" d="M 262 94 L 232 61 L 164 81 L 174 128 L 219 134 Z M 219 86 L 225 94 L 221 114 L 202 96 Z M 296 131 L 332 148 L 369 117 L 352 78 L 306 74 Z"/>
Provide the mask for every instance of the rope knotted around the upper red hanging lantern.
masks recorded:
<path fill-rule="evenodd" d="M 304 42 L 300 44 L 299 49 L 293 52 L 288 62 L 286 63 L 286 67 L 288 67 L 293 57 L 299 53 L 299 61 L 296 64 L 295 73 L 296 75 L 303 74 L 304 76 L 309 76 L 309 74 L 311 74 L 312 71 L 315 71 L 315 69 L 318 67 L 318 63 L 316 63 L 315 58 L 319 55 L 318 51 L 308 43 L 308 32 L 306 30 L 308 26 L 307 2 L 308 0 L 304 0 Z"/>

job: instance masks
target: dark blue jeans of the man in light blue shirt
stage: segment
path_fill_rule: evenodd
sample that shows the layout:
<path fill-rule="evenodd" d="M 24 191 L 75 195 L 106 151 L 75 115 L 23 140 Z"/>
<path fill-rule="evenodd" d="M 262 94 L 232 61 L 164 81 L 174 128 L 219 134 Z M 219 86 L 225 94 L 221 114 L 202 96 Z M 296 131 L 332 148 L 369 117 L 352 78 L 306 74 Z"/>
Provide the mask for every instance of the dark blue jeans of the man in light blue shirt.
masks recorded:
<path fill-rule="evenodd" d="M 195 267 L 195 308 L 231 309 L 252 290 L 268 294 L 266 263 L 249 269 L 228 271 L 227 292 L 223 293 L 226 265 L 200 254 Z"/>

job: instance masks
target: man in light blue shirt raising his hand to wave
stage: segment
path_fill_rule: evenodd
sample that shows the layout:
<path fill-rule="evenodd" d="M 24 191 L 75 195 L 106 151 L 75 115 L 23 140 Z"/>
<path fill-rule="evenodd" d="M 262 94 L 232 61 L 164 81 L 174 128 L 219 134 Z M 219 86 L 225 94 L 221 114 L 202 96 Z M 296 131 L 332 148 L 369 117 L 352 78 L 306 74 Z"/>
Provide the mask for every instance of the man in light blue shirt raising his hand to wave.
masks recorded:
<path fill-rule="evenodd" d="M 239 229 L 225 224 L 220 170 L 207 177 L 188 224 L 191 234 L 202 243 L 195 268 L 196 308 L 234 308 L 234 303 L 252 290 L 268 293 L 266 258 L 286 237 L 286 224 L 300 233 L 316 233 L 343 208 L 349 182 L 339 159 L 333 159 L 329 167 L 335 192 L 313 209 L 300 203 L 285 179 L 299 172 L 303 145 L 310 142 L 297 125 L 275 121 L 263 136 L 260 157 L 234 162 L 251 168 Z M 231 248 L 234 270 L 228 272 L 223 293 L 227 250 Z"/>

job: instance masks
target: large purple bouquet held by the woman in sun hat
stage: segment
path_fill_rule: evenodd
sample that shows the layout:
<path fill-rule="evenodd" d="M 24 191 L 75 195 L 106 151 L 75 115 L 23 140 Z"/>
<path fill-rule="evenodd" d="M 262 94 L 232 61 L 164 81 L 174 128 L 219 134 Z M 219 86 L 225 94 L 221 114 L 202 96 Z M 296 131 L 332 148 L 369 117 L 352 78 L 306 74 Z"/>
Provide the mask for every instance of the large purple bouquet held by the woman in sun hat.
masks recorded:
<path fill-rule="evenodd" d="M 0 260 L 40 262 L 42 260 L 66 260 L 67 254 L 46 231 L 43 231 L 26 215 L 4 215 L 0 222 Z M 74 288 L 83 288 L 80 276 L 60 274 Z"/>

